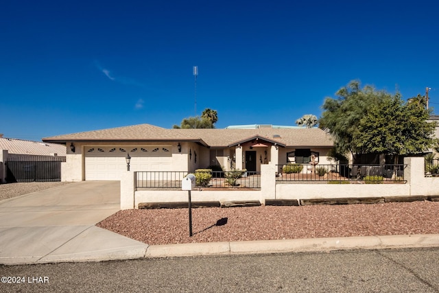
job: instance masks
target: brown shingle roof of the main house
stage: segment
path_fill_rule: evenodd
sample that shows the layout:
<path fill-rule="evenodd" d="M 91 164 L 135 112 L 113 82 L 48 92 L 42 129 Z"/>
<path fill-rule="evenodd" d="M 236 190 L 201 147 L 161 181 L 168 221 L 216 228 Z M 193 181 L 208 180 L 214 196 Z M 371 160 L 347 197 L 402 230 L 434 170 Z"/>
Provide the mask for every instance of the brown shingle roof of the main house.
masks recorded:
<path fill-rule="evenodd" d="M 246 139 L 260 137 L 280 146 L 331 147 L 333 141 L 320 128 L 252 128 L 252 129 L 167 129 L 140 124 L 104 130 L 46 137 L 43 141 L 193 141 L 211 148 L 226 148 Z"/>

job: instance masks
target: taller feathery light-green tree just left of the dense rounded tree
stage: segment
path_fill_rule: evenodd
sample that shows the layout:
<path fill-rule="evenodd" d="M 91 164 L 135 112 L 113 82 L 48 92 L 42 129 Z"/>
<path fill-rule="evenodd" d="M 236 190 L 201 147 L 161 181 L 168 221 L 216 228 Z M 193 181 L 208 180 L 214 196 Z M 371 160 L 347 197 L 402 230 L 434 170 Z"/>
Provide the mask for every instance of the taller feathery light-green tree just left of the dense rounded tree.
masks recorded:
<path fill-rule="evenodd" d="M 370 105 L 381 104 L 388 93 L 364 86 L 358 80 L 349 82 L 338 90 L 336 98 L 327 97 L 322 106 L 324 112 L 318 123 L 334 139 L 335 151 L 340 154 L 363 154 L 361 145 L 353 140 L 353 134 L 362 117 L 368 114 Z"/>

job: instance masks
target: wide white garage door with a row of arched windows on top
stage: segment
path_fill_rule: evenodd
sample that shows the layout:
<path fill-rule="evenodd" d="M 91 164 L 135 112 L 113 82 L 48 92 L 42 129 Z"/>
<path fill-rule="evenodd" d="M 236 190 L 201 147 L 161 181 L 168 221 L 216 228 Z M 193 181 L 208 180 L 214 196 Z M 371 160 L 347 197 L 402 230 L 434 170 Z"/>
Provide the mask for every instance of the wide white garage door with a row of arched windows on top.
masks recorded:
<path fill-rule="evenodd" d="M 138 147 L 85 147 L 85 180 L 120 180 L 126 172 L 126 155 L 131 171 L 171 171 L 170 145 Z"/>

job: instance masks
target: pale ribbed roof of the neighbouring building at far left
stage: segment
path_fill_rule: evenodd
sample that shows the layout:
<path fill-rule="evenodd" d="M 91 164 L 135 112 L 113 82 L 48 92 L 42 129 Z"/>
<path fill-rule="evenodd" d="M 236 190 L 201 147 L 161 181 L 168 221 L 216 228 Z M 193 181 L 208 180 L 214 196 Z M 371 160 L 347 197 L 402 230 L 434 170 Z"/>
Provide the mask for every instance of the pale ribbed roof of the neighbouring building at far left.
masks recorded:
<path fill-rule="evenodd" d="M 66 156 L 65 145 L 7 139 L 5 137 L 0 137 L 0 150 L 8 150 L 9 154 L 29 154 L 33 156 L 54 156 L 54 154 L 57 154 L 58 156 Z"/>

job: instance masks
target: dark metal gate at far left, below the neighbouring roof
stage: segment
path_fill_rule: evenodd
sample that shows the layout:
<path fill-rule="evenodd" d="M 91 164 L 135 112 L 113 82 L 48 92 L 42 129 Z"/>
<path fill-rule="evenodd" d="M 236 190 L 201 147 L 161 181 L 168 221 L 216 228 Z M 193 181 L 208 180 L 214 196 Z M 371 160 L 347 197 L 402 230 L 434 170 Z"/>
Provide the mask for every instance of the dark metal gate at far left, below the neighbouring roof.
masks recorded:
<path fill-rule="evenodd" d="M 6 182 L 44 182 L 61 180 L 62 157 L 25 156 L 8 158 L 6 166 Z"/>

